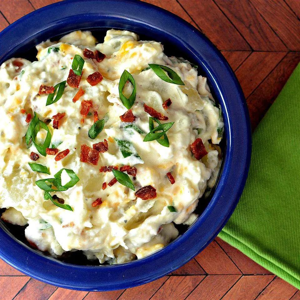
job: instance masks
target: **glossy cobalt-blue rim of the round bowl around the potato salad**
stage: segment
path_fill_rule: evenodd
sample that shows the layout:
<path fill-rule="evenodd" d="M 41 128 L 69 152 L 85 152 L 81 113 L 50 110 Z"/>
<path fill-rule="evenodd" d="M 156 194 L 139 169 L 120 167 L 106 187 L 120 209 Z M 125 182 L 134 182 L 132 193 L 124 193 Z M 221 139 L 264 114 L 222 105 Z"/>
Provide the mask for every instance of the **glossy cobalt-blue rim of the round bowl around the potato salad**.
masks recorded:
<path fill-rule="evenodd" d="M 41 20 L 43 20 L 41 22 Z M 220 103 L 226 152 L 219 182 L 204 212 L 180 237 L 158 252 L 111 266 L 80 266 L 46 257 L 0 227 L 0 257 L 17 270 L 58 287 L 108 291 L 138 286 L 169 274 L 201 252 L 225 225 L 244 188 L 251 156 L 247 105 L 232 69 L 217 48 L 176 15 L 135 0 L 67 0 L 38 9 L 0 33 L 0 64 L 14 53 L 63 32 L 97 27 L 145 30 L 188 53 Z M 161 37 L 161 39 L 159 39 Z"/>

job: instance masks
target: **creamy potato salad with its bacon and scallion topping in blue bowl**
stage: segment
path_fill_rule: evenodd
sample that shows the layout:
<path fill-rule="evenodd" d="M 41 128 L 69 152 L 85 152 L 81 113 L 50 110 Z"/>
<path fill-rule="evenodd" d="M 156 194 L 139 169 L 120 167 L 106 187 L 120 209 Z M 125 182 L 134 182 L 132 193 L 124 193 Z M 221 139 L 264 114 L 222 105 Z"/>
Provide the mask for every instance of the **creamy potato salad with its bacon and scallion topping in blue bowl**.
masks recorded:
<path fill-rule="evenodd" d="M 129 31 L 36 48 L 37 61 L 0 67 L 2 220 L 53 257 L 115 264 L 166 246 L 220 169 L 224 124 L 206 78 Z"/>

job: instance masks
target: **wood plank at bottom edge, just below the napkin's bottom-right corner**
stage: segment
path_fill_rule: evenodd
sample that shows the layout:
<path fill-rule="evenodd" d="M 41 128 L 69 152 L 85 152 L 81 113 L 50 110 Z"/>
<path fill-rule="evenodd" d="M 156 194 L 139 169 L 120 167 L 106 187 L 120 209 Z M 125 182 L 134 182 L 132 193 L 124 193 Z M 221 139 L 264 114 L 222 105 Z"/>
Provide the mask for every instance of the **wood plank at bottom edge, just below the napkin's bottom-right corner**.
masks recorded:
<path fill-rule="evenodd" d="M 297 292 L 296 287 L 277 277 L 257 297 L 257 300 L 289 300 L 295 292 Z"/>

